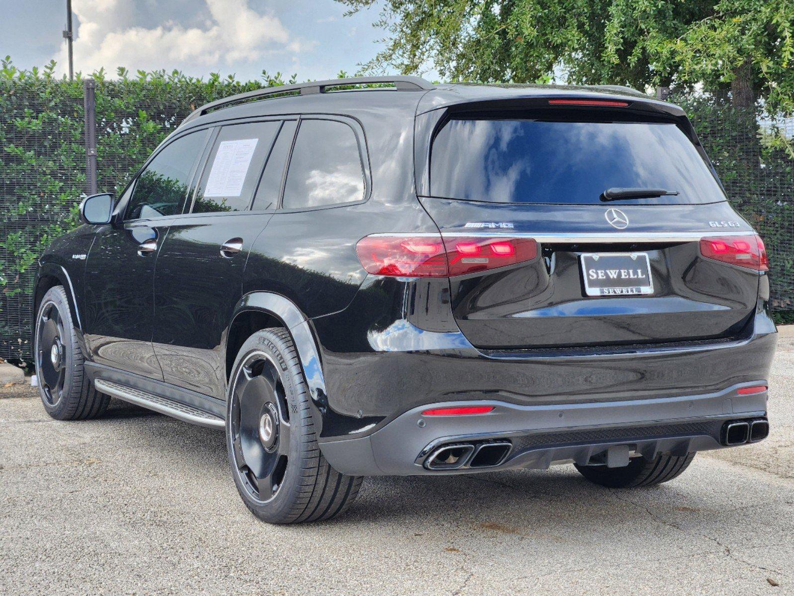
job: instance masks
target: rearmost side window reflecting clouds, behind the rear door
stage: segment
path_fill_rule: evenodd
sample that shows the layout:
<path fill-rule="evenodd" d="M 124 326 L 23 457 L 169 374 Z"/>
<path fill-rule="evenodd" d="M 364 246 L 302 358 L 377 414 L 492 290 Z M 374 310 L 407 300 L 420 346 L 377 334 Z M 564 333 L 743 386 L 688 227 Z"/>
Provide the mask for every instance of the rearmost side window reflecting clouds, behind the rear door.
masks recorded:
<path fill-rule="evenodd" d="M 292 149 L 284 209 L 364 199 L 364 170 L 353 129 L 333 120 L 303 120 Z"/>

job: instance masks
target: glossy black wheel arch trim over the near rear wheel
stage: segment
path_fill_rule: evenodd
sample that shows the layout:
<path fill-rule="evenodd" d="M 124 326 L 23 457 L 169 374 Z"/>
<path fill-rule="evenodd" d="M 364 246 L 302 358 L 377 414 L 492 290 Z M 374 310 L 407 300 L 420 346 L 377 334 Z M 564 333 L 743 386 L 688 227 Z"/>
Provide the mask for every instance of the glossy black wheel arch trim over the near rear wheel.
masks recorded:
<path fill-rule="evenodd" d="M 290 332 L 292 341 L 295 342 L 295 349 L 298 350 L 298 358 L 303 368 L 303 374 L 306 376 L 306 383 L 309 385 L 314 413 L 318 414 L 315 416 L 315 420 L 321 424 L 321 428 L 318 429 L 319 435 L 322 432 L 322 420 L 328 412 L 328 397 L 326 395 L 326 379 L 322 374 L 320 352 L 309 320 L 291 300 L 273 292 L 245 294 L 234 308 L 231 323 L 237 319 L 238 315 L 246 311 L 264 312 L 275 316 Z M 225 344 L 228 343 L 228 339 L 227 335 Z M 226 345 L 224 345 L 224 350 L 226 350 Z"/>

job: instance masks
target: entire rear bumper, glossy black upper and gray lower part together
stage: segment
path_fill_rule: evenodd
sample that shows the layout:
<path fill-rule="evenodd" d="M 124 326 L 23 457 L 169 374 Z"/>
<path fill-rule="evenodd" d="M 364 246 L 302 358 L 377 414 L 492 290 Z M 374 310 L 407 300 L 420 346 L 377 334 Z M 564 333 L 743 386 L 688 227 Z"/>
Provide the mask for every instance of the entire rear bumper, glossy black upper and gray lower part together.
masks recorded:
<path fill-rule="evenodd" d="M 344 311 L 306 322 L 322 361 L 312 389 L 319 443 L 337 470 L 454 473 L 427 470 L 422 454 L 455 440 L 510 441 L 500 469 L 587 463 L 609 445 L 702 451 L 720 447 L 727 420 L 765 416 L 766 392 L 737 393 L 768 385 L 777 332 L 761 302 L 736 339 L 506 354 L 468 342 L 445 292 L 432 278 L 372 278 Z M 473 404 L 495 409 L 421 416 L 431 405 Z"/>

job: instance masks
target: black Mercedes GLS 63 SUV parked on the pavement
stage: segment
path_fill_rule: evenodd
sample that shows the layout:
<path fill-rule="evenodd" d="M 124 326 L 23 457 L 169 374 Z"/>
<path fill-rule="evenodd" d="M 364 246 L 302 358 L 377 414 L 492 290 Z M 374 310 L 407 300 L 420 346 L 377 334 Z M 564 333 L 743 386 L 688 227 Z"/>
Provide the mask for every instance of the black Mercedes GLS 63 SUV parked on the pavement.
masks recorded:
<path fill-rule="evenodd" d="M 376 474 L 647 486 L 769 432 L 763 242 L 684 111 L 625 87 L 252 91 L 80 211 L 38 269 L 44 408 L 225 429 L 265 521 Z"/>

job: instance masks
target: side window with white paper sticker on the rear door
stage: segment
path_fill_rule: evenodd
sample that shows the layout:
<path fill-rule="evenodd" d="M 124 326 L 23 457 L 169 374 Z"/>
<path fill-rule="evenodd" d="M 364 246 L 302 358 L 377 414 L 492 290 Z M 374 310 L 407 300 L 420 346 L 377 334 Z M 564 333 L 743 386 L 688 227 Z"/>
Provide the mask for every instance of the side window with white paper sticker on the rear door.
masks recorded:
<path fill-rule="evenodd" d="M 245 211 L 281 122 L 223 126 L 196 190 L 193 213 Z"/>

